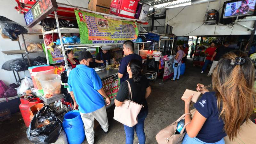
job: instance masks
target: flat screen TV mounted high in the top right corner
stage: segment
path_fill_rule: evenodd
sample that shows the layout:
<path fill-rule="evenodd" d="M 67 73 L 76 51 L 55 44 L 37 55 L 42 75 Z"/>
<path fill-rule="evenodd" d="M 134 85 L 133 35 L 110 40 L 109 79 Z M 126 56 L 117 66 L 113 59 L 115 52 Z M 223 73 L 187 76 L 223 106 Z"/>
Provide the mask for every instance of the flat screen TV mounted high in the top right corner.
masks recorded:
<path fill-rule="evenodd" d="M 235 0 L 224 4 L 223 18 L 253 15 L 256 0 Z"/>

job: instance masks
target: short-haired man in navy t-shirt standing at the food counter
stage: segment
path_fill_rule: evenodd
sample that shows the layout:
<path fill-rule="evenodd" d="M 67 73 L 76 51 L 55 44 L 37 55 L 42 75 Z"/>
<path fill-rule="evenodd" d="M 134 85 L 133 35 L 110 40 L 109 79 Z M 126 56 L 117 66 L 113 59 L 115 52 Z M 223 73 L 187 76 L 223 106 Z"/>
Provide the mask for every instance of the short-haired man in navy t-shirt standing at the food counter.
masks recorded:
<path fill-rule="evenodd" d="M 133 53 L 134 44 L 132 41 L 124 41 L 123 48 L 125 57 L 120 61 L 120 66 L 118 69 L 118 77 L 120 78 L 120 84 L 122 84 L 129 78 L 126 68 L 132 59 L 138 59 L 142 63 L 142 58 L 138 54 Z"/>

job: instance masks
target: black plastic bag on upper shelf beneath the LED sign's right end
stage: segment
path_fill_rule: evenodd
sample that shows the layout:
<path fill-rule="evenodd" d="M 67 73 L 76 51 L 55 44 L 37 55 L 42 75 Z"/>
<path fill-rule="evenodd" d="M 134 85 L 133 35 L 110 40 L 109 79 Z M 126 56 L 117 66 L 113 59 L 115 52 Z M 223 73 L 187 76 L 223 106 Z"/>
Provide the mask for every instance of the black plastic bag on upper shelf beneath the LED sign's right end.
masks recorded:
<path fill-rule="evenodd" d="M 44 20 L 41 20 L 41 23 L 39 25 L 43 26 L 45 31 L 57 29 L 56 20 L 53 18 L 45 18 Z M 63 28 L 63 27 L 66 28 L 68 25 L 68 21 L 59 19 L 59 25 L 60 25 L 60 28 Z"/>

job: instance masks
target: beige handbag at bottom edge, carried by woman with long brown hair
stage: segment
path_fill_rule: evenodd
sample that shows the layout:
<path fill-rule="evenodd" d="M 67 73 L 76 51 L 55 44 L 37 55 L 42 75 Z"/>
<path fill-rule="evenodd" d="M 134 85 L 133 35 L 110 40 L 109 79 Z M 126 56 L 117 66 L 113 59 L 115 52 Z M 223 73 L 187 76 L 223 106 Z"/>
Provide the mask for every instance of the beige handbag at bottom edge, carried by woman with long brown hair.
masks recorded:
<path fill-rule="evenodd" d="M 190 122 L 184 125 L 184 127 L 180 131 L 180 134 L 175 134 L 175 132 L 177 130 L 178 122 L 186 115 L 191 115 L 191 113 L 183 114 L 175 122 L 173 122 L 172 124 L 170 124 L 169 126 L 167 126 L 166 128 L 157 133 L 156 141 L 158 142 L 158 144 L 179 144 L 182 142 L 182 139 L 186 133 L 184 132 L 185 128 Z"/>

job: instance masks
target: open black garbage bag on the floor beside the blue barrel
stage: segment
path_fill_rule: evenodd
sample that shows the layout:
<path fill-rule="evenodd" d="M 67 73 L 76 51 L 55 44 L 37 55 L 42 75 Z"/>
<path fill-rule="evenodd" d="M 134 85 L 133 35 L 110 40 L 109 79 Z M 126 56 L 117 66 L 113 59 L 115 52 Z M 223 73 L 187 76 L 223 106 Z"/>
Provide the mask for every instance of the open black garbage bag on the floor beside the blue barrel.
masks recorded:
<path fill-rule="evenodd" d="M 37 128 L 48 120 L 47 125 Z M 54 143 L 62 131 L 61 123 L 54 115 L 48 105 L 44 106 L 36 113 L 27 129 L 27 137 L 32 143 L 49 144 Z"/>

